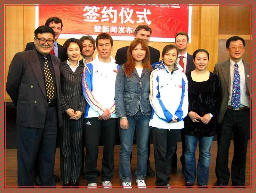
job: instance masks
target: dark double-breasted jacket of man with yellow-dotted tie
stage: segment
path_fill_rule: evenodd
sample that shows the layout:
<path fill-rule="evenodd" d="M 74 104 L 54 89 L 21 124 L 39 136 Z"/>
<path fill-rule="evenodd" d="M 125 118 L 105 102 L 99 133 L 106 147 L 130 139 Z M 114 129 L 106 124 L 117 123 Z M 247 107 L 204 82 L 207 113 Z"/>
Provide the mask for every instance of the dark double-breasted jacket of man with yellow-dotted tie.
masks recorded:
<path fill-rule="evenodd" d="M 50 55 L 57 93 L 59 126 L 62 125 L 60 107 L 60 59 Z M 9 67 L 6 91 L 16 106 L 17 125 L 44 128 L 47 99 L 44 77 L 36 49 L 15 54 Z"/>

